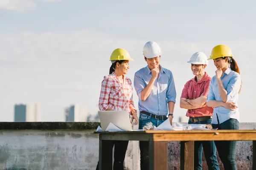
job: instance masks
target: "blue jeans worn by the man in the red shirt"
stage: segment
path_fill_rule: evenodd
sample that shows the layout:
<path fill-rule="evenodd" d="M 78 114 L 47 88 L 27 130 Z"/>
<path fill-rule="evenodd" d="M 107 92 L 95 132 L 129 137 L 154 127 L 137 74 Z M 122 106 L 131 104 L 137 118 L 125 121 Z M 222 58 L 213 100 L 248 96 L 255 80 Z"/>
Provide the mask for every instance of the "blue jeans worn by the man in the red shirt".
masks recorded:
<path fill-rule="evenodd" d="M 189 124 L 211 124 L 211 122 L 212 119 L 209 119 L 200 122 L 189 121 Z M 208 165 L 208 170 L 220 169 L 216 156 L 216 147 L 214 141 L 195 141 L 194 146 L 194 170 L 202 170 L 203 148 L 204 156 Z"/>

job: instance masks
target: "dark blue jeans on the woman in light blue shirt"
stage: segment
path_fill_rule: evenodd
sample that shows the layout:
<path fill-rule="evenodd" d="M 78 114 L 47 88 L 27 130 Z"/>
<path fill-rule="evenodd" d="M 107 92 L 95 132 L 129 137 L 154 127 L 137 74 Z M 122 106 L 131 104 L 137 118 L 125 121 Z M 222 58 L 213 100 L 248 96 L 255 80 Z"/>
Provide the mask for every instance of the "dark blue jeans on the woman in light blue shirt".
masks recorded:
<path fill-rule="evenodd" d="M 218 128 L 219 130 L 238 130 L 239 122 L 237 119 L 228 119 L 221 124 L 212 124 L 212 127 Z M 215 145 L 218 150 L 219 157 L 224 165 L 224 169 L 237 170 L 235 161 L 236 141 L 215 141 Z"/>

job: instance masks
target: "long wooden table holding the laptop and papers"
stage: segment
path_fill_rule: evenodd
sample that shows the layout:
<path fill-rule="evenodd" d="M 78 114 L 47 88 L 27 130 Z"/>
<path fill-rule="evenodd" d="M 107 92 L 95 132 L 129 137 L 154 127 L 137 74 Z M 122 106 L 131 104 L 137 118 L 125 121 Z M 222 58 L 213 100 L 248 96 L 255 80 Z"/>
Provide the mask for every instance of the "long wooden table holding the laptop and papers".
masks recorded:
<path fill-rule="evenodd" d="M 253 141 L 256 170 L 256 130 L 147 130 L 99 133 L 99 169 L 112 170 L 112 141 L 148 141 L 150 170 L 168 170 L 168 141 L 180 141 L 180 170 L 194 169 L 194 141 Z"/>

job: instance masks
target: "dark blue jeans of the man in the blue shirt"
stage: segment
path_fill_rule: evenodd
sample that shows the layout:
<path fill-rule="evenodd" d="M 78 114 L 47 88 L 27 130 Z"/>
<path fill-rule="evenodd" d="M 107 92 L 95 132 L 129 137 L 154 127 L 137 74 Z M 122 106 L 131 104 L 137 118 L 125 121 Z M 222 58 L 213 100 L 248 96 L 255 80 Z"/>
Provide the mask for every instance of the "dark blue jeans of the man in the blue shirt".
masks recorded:
<path fill-rule="evenodd" d="M 148 115 L 140 113 L 139 129 L 143 129 L 143 127 L 149 122 L 152 122 L 152 124 L 157 127 L 164 121 L 165 120 L 154 119 L 152 117 L 149 117 Z M 140 170 L 149 170 L 148 148 L 148 142 L 140 141 Z"/>

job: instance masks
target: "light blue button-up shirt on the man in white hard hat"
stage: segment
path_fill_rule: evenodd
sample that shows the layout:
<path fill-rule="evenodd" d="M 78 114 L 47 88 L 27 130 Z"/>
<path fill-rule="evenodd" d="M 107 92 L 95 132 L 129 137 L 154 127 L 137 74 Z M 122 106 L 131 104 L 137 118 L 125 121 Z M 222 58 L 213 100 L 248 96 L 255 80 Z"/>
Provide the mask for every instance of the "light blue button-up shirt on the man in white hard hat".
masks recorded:
<path fill-rule="evenodd" d="M 145 68 L 141 68 L 134 75 L 134 88 L 139 97 L 139 110 L 166 116 L 168 114 L 167 103 L 169 101 L 176 102 L 176 90 L 172 72 L 160 65 L 158 79 L 154 82 L 148 98 L 142 101 L 141 91 L 148 85 L 151 77 L 152 73 L 148 65 Z"/>

